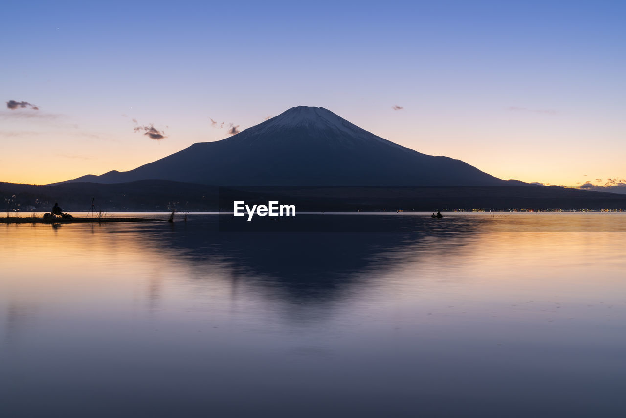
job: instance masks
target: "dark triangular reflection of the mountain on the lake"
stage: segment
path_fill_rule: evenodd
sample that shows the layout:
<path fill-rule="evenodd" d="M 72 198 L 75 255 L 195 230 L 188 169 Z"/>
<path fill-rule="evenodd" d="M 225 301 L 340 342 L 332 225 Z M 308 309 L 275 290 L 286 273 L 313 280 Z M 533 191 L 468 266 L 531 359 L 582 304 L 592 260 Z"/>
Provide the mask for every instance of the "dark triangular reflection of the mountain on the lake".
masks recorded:
<path fill-rule="evenodd" d="M 218 233 L 216 219 L 170 225 L 167 233 L 162 225 L 146 226 L 128 231 L 125 241 L 145 243 L 142 251 L 187 266 L 191 280 L 212 278 L 218 269 L 219 276 L 232 281 L 233 295 L 243 282 L 263 288 L 257 291 L 271 298 L 310 305 L 341 300 L 355 283 L 365 285 L 367 278 L 393 274 L 409 262 L 419 270 L 421 258 L 462 258 L 475 251 L 471 245 L 480 230 L 467 222 L 449 231 Z"/>

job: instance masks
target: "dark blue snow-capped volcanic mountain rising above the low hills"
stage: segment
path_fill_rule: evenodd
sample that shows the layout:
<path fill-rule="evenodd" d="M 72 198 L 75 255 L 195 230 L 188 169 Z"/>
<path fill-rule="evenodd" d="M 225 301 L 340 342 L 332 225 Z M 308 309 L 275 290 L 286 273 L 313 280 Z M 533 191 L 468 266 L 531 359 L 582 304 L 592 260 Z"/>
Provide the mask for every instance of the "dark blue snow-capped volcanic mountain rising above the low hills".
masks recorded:
<path fill-rule="evenodd" d="M 193 144 L 134 170 L 86 175 L 69 182 L 147 179 L 221 186 L 511 184 L 461 160 L 394 144 L 325 108 L 305 106 L 290 108 L 232 137 Z"/>

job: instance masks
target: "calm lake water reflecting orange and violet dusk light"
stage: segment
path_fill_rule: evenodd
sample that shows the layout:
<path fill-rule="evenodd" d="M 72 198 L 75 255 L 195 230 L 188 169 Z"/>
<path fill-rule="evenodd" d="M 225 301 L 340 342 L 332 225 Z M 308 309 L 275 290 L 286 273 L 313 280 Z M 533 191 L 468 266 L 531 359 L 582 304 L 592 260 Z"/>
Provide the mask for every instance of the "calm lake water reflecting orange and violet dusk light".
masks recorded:
<path fill-rule="evenodd" d="M 0 415 L 626 416 L 626 214 L 217 218 L 1 224 Z"/>

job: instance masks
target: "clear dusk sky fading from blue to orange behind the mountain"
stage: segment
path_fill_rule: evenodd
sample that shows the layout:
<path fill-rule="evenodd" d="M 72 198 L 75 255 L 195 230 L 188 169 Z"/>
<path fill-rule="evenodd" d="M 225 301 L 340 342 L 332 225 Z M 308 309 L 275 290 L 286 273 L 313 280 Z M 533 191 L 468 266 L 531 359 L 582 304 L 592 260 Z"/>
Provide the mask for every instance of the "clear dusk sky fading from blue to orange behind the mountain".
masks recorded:
<path fill-rule="evenodd" d="M 626 178 L 624 16 L 623 1 L 6 2 L 0 181 L 131 170 L 305 105 L 502 179 L 603 185 Z"/>

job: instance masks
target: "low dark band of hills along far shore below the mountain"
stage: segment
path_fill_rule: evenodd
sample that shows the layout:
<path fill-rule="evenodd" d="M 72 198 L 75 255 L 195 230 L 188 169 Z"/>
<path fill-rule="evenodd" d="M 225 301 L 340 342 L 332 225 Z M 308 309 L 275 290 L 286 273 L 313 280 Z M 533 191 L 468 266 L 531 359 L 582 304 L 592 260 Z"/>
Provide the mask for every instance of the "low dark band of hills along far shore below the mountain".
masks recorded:
<path fill-rule="evenodd" d="M 229 187 L 139 180 L 55 186 L 0 183 L 0 211 L 232 210 L 233 200 L 295 204 L 299 211 L 446 211 L 454 209 L 624 209 L 626 196 L 557 186 Z M 0 215 L 1 217 L 1 215 Z"/>

